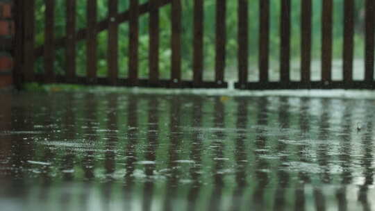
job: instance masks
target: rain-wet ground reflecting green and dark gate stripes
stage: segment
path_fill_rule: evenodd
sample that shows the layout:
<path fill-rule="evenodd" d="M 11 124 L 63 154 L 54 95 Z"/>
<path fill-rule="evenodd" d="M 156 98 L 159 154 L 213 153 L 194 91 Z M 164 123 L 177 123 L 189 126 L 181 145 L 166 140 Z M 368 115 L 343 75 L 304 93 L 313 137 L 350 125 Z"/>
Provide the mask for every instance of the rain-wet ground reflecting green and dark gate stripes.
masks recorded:
<path fill-rule="evenodd" d="M 1 210 L 375 210 L 374 100 L 1 99 Z"/>

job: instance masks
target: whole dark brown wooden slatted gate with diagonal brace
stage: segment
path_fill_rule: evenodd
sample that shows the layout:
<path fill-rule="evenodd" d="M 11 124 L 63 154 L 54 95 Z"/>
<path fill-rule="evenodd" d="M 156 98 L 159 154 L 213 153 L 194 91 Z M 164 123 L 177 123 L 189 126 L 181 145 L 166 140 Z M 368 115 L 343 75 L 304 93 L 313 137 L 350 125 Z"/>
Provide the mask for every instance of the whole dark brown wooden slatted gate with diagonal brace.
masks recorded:
<path fill-rule="evenodd" d="M 46 0 L 44 44 L 35 47 L 35 0 L 17 0 L 15 44 L 15 75 L 17 83 L 78 83 L 94 85 L 119 85 L 141 87 L 227 87 L 224 81 L 226 69 L 226 4 L 230 1 L 216 0 L 215 25 L 215 80 L 203 81 L 203 0 L 194 0 L 194 35 L 192 56 L 192 80 L 181 78 L 181 0 L 149 0 L 140 4 L 138 0 L 129 0 L 130 7 L 118 12 L 118 0 L 108 0 L 108 17 L 97 22 L 97 0 L 87 0 L 87 26 L 76 30 L 76 0 L 66 0 L 66 36 L 56 37 L 54 32 L 55 0 Z M 344 1 L 344 46 L 343 80 L 332 80 L 333 46 L 333 0 L 322 0 L 322 79 L 312 81 L 311 75 L 311 31 L 312 1 L 301 1 L 301 80 L 290 80 L 290 31 L 291 0 L 281 1 L 280 19 L 280 81 L 269 81 L 269 0 L 259 0 L 258 67 L 259 81 L 249 82 L 249 1 L 238 0 L 238 89 L 373 89 L 374 88 L 374 26 L 375 2 L 365 1 L 365 80 L 353 80 L 353 0 Z M 159 9 L 171 5 L 171 49 L 172 56 L 170 78 L 159 77 Z M 149 74 L 147 79 L 139 78 L 138 42 L 139 17 L 149 14 Z M 119 24 L 128 22 L 128 78 L 119 78 L 118 41 Z M 97 35 L 108 31 L 108 75 L 97 76 Z M 80 40 L 86 43 L 86 75 L 76 75 L 76 44 Z M 65 48 L 65 74 L 56 74 L 53 70 L 56 49 Z M 43 57 L 44 73 L 36 74 L 34 62 Z"/>

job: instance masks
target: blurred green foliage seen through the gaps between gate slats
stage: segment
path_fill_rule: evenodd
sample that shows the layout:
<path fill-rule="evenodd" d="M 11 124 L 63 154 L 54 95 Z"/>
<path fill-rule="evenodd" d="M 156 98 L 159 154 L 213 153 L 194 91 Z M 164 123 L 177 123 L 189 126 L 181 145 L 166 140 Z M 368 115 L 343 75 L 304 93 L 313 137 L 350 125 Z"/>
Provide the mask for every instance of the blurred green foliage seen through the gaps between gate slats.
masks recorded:
<path fill-rule="evenodd" d="M 37 10 L 35 11 L 36 19 L 36 35 L 35 44 L 39 46 L 44 42 L 44 6 L 45 0 L 36 0 Z M 183 6 L 183 19 L 182 19 L 182 65 L 183 65 L 183 78 L 192 77 L 192 42 L 193 42 L 193 15 L 194 15 L 194 1 L 181 0 Z M 98 2 L 98 15 L 97 21 L 101 21 L 108 16 L 108 0 Z M 142 0 L 140 3 L 145 3 L 147 0 Z M 86 1 L 76 1 L 76 26 L 77 31 L 80 28 L 85 28 L 86 19 Z M 333 1 L 333 56 L 334 58 L 341 58 L 342 56 L 342 31 L 343 24 L 343 3 L 342 0 Z M 280 54 L 280 38 L 279 38 L 279 19 L 280 19 L 280 0 L 271 0 L 271 14 L 270 14 L 270 57 L 272 61 L 277 61 Z M 355 40 L 355 56 L 363 57 L 363 10 L 364 0 L 355 1 L 355 23 L 356 33 Z M 129 2 L 119 1 L 119 12 L 128 10 Z M 215 67 L 215 0 L 204 1 L 204 65 L 205 78 L 213 78 L 212 70 Z M 56 0 L 56 38 L 65 36 L 65 0 Z M 227 1 L 226 13 L 226 30 L 227 30 L 227 44 L 226 44 L 226 65 L 228 68 L 233 68 L 237 63 L 238 51 L 238 1 Z M 320 39 L 321 39 L 321 10 L 322 1 L 313 1 L 313 59 L 319 59 L 320 56 Z M 171 66 L 171 49 L 170 49 L 170 36 L 171 36 L 171 7 L 170 5 L 160 8 L 160 77 L 169 78 Z M 301 13 L 301 0 L 292 0 L 292 13 L 291 19 L 291 53 L 292 60 L 299 59 L 300 56 L 300 13 Z M 256 67 L 258 60 L 258 31 L 259 31 L 259 1 L 249 0 L 249 60 L 251 67 Z M 119 25 L 119 76 L 126 78 L 128 71 L 128 23 Z M 98 49 L 97 49 L 97 62 L 98 62 L 98 75 L 106 76 L 107 74 L 107 48 L 108 48 L 108 35 L 107 31 L 103 31 L 97 35 Z M 77 74 L 85 75 L 86 72 L 86 48 L 85 41 L 78 42 L 77 44 Z M 149 15 L 142 15 L 140 18 L 140 40 L 139 40 L 139 65 L 140 77 L 147 78 L 148 76 L 148 56 L 149 56 Z M 38 72 L 43 72 L 42 58 L 35 62 Z M 65 69 L 65 51 L 58 49 L 56 51 L 56 72 L 64 74 Z"/>

